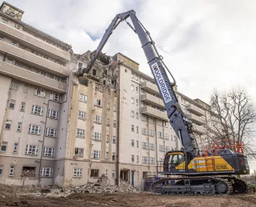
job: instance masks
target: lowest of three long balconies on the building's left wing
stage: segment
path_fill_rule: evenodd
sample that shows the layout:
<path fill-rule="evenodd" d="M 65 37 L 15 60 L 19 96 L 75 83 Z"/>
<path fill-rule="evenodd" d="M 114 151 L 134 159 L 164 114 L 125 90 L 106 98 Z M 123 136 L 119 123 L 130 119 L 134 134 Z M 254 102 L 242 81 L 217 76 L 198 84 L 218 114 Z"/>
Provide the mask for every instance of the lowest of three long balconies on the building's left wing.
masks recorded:
<path fill-rule="evenodd" d="M 0 73 L 53 92 L 60 94 L 66 92 L 66 83 L 55 81 L 54 79 L 44 77 L 30 70 L 19 68 L 3 61 L 0 61 Z"/>

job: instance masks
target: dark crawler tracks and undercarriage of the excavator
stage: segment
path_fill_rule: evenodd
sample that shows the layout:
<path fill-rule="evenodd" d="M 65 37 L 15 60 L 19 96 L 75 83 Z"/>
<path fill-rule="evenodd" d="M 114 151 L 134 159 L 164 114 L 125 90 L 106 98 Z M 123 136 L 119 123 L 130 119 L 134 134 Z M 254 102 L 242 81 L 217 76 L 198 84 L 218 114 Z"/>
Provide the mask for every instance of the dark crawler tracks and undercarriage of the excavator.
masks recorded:
<path fill-rule="evenodd" d="M 245 181 L 229 176 L 172 177 L 152 184 L 152 192 L 167 195 L 228 195 L 247 193 Z"/>

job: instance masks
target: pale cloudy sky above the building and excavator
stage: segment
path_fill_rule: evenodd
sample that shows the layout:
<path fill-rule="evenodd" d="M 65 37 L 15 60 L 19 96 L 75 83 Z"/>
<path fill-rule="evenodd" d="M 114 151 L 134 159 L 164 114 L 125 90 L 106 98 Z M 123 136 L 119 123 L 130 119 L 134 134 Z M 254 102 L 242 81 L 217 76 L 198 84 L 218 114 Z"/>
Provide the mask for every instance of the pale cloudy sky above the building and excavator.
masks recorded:
<path fill-rule="evenodd" d="M 256 99 L 256 1 L 6 1 L 24 10 L 22 21 L 71 44 L 80 54 L 97 48 L 116 14 L 133 9 L 152 35 L 179 92 L 209 103 L 214 88 L 239 85 Z M 125 22 L 102 52 L 121 52 L 151 75 L 138 36 Z"/>

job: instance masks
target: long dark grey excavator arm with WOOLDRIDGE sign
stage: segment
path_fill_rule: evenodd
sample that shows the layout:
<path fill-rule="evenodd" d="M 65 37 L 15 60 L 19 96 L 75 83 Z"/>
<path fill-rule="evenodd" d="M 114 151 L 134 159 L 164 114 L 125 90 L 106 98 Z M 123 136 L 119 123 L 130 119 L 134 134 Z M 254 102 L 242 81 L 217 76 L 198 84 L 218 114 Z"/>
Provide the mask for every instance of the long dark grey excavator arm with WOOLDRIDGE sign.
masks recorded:
<path fill-rule="evenodd" d="M 126 21 L 128 17 L 131 18 L 134 27 Z M 158 54 L 150 33 L 137 19 L 136 12 L 134 10 L 129 10 L 128 12 L 123 12 L 116 15 L 109 25 L 109 28 L 107 28 L 106 32 L 104 33 L 97 50 L 89 61 L 88 66 L 83 68 L 82 73 L 88 73 L 91 70 L 93 63 L 98 58 L 98 55 L 102 51 L 105 43 L 107 43 L 107 40 L 109 39 L 113 30 L 116 29 L 116 27 L 122 21 L 126 21 L 128 26 L 134 30 L 136 34 L 138 34 L 138 38 L 140 39 L 140 43 L 147 57 L 147 63 L 149 64 L 149 68 L 154 75 L 154 80 L 156 81 L 158 90 L 161 93 L 163 103 L 165 104 L 168 119 L 172 125 L 172 128 L 176 132 L 176 135 L 179 137 L 179 139 L 181 139 L 184 151 L 190 153 L 190 155 L 197 155 L 198 146 L 196 144 L 196 139 L 192 134 L 192 123 L 182 112 L 181 107 L 179 106 L 179 101 L 174 93 L 173 86 L 175 86 L 176 81 L 170 70 L 167 68 L 167 66 L 165 66 L 165 63 L 163 63 L 163 57 Z M 172 82 L 167 76 L 166 70 L 172 77 Z"/>

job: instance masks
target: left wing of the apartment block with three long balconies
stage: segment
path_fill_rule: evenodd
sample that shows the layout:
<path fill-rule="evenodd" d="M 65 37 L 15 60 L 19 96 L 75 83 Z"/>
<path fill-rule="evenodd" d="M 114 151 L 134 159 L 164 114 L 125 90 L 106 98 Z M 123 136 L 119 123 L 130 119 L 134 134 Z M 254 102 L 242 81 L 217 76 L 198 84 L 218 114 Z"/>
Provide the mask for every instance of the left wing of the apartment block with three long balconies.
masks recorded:
<path fill-rule="evenodd" d="M 62 157 L 71 46 L 0 7 L 0 182 L 53 184 Z"/>

